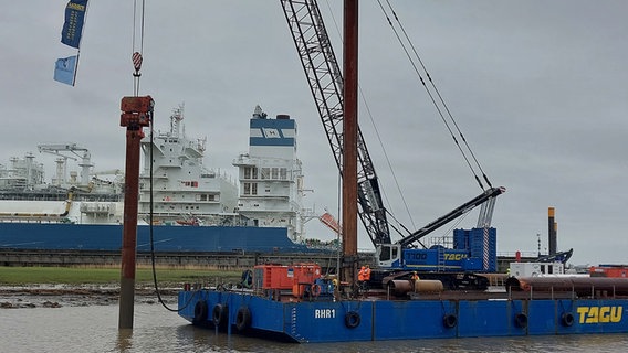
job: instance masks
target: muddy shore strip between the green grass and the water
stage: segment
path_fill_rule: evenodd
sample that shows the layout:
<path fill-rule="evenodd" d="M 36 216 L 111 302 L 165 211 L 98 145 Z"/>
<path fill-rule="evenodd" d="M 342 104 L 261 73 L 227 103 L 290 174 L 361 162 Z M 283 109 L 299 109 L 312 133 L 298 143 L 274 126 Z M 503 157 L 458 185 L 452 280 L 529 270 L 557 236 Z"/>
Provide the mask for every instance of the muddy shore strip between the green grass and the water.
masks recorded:
<path fill-rule="evenodd" d="M 177 302 L 177 284 L 159 285 L 166 303 Z M 0 309 L 61 308 L 85 306 L 114 306 L 118 303 L 116 285 L 24 285 L 0 286 Z M 135 289 L 138 303 L 158 303 L 153 284 L 138 284 Z"/>

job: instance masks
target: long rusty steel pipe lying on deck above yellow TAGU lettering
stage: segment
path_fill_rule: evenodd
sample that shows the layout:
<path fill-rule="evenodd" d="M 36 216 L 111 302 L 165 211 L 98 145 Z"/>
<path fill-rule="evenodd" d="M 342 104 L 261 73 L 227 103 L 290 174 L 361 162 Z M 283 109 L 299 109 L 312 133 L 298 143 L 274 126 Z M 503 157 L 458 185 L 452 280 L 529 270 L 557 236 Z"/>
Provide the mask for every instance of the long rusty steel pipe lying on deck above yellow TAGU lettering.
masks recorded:
<path fill-rule="evenodd" d="M 513 291 L 575 292 L 579 297 L 628 296 L 628 278 L 606 277 L 511 277 L 506 289 Z"/>

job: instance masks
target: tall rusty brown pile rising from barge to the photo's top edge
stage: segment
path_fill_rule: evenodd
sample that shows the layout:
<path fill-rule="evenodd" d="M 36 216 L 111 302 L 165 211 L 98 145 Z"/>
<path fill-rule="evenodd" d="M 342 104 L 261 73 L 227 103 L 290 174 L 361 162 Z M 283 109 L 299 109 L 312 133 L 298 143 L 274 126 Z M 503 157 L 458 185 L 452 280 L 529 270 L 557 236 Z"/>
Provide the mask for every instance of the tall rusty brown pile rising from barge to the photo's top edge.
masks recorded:
<path fill-rule="evenodd" d="M 357 274 L 357 50 L 358 0 L 344 0 L 343 281 Z"/>

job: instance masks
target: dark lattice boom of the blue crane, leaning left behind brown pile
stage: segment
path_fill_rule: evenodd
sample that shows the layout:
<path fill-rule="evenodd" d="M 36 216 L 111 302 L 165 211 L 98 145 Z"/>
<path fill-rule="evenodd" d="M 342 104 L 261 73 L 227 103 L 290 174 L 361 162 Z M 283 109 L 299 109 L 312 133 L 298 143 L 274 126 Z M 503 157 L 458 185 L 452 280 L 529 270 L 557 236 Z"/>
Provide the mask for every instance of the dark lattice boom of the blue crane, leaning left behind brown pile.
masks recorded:
<path fill-rule="evenodd" d="M 315 0 L 280 0 L 332 153 L 341 174 L 343 156 L 343 76 Z M 390 244 L 386 208 L 370 154 L 358 127 L 358 215 L 375 246 Z"/>

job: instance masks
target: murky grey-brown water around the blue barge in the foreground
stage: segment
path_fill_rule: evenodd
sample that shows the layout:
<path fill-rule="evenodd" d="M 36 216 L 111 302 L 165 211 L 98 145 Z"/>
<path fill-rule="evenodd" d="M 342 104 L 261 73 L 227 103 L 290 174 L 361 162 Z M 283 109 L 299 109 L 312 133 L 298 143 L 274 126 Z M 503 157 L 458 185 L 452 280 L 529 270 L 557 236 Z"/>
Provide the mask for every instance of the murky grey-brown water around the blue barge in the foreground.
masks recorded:
<path fill-rule="evenodd" d="M 137 303 L 134 329 L 117 304 L 0 309 L 0 352 L 626 352 L 628 335 L 482 338 L 325 344 L 278 343 L 192 327 L 160 304 Z M 420 324 L 420 323 L 418 323 Z"/>

